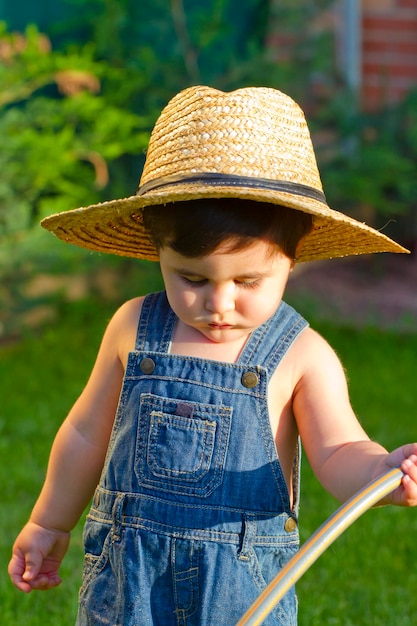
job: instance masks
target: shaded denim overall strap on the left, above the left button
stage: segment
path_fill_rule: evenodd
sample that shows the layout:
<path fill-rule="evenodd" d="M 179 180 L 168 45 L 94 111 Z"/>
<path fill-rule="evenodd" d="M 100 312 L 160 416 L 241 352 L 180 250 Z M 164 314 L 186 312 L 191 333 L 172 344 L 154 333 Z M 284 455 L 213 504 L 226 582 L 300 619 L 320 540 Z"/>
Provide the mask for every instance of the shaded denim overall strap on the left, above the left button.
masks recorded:
<path fill-rule="evenodd" d="M 177 318 L 165 291 L 145 296 L 139 316 L 135 350 L 168 353 Z"/>

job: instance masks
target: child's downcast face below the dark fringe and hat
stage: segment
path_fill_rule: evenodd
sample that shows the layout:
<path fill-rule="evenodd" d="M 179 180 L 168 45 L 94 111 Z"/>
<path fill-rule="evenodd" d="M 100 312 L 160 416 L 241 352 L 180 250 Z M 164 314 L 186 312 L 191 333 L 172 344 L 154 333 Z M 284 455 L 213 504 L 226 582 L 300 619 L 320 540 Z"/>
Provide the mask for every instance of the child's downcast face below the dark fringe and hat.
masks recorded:
<path fill-rule="evenodd" d="M 257 241 L 238 252 L 220 246 L 202 258 L 160 250 L 169 303 L 177 317 L 216 343 L 238 340 L 278 308 L 293 261 Z"/>

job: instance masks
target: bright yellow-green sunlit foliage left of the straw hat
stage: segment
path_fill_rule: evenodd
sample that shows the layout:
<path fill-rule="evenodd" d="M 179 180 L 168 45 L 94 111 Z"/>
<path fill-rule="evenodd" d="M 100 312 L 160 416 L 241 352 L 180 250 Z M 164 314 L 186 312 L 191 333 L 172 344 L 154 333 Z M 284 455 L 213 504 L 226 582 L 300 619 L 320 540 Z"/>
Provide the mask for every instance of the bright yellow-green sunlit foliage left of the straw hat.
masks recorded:
<path fill-rule="evenodd" d="M 64 54 L 34 26 L 0 30 L 0 237 L 30 228 L 47 213 L 97 202 L 120 191 L 112 164 L 139 155 L 149 119 L 113 102 L 121 77 L 85 46 Z M 114 167 L 114 165 L 113 165 Z M 122 180 L 121 180 L 122 179 Z M 124 191 L 125 193 L 125 191 Z"/>

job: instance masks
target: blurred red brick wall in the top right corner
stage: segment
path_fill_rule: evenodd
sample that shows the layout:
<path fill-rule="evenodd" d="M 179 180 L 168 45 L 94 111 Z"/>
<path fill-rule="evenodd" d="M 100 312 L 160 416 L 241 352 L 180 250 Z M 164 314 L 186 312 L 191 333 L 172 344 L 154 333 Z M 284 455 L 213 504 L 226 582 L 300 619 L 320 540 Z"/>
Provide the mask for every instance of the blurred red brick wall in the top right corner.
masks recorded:
<path fill-rule="evenodd" d="M 417 86 L 417 0 L 363 0 L 362 102 L 376 109 Z"/>

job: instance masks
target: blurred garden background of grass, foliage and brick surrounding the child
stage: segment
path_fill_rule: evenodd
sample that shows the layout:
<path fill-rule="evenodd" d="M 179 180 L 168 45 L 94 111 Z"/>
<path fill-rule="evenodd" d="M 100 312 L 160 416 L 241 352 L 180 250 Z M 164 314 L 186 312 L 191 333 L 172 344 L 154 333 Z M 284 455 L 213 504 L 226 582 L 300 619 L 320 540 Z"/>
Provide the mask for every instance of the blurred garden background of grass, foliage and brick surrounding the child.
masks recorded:
<path fill-rule="evenodd" d="M 109 318 L 162 286 L 39 220 L 135 193 L 160 110 L 198 83 L 295 98 L 330 206 L 410 249 L 300 264 L 286 299 L 341 356 L 369 435 L 417 438 L 417 0 L 0 0 L 2 626 L 74 623 L 82 521 L 57 590 L 23 596 L 6 564 Z M 304 462 L 302 540 L 337 506 Z M 300 625 L 415 624 L 415 531 L 415 510 L 356 522 L 300 582 Z"/>

